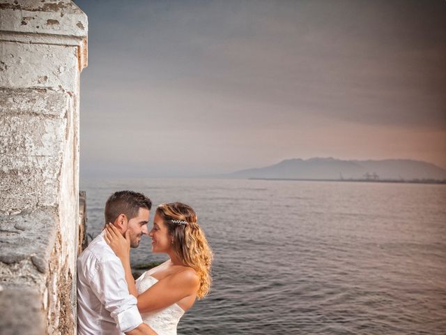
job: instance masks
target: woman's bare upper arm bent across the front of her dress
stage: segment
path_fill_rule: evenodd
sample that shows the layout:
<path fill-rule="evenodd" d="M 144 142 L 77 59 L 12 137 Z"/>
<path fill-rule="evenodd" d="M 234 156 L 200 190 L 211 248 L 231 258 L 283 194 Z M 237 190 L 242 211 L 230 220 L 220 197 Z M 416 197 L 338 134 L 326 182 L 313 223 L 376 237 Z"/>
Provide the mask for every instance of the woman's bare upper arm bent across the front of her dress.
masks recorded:
<path fill-rule="evenodd" d="M 187 268 L 152 285 L 138 298 L 140 313 L 156 311 L 175 304 L 185 297 L 195 295 L 199 288 L 199 276 L 193 269 Z"/>

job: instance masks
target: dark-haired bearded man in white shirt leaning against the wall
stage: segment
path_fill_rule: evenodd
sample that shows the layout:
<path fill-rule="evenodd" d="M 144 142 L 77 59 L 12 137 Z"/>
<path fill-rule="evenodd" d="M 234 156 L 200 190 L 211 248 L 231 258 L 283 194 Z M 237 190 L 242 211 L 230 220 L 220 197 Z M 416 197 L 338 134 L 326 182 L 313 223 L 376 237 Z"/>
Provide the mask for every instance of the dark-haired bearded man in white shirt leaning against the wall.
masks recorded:
<path fill-rule="evenodd" d="M 115 192 L 105 204 L 105 223 L 113 223 L 124 236 L 129 230 L 130 246 L 137 248 L 142 234 L 148 234 L 151 208 L 151 200 L 141 193 Z M 156 335 L 142 322 L 121 260 L 104 234 L 93 239 L 77 259 L 77 334 Z"/>

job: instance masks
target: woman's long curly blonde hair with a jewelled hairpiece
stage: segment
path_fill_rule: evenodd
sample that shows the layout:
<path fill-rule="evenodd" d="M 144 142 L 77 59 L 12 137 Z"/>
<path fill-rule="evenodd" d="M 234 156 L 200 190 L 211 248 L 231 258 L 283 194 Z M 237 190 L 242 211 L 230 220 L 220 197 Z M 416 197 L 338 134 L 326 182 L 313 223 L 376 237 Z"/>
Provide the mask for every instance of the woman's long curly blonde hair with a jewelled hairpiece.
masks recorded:
<path fill-rule="evenodd" d="M 194 209 L 181 202 L 160 204 L 157 209 L 167 226 L 169 234 L 174 237 L 174 250 L 184 265 L 192 267 L 199 278 L 200 287 L 197 292 L 199 299 L 205 297 L 210 289 L 210 265 L 213 253 L 206 241 L 203 230 L 197 223 Z M 176 222 L 173 222 L 176 221 Z M 178 221 L 183 221 L 178 223 Z"/>

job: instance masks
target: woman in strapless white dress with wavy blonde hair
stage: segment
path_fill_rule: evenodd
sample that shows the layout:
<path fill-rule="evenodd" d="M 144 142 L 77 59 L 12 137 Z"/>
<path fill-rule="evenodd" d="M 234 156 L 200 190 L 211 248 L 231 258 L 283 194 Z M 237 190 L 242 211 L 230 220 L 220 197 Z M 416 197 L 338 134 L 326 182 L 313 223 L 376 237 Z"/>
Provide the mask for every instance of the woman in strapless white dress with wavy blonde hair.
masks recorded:
<path fill-rule="evenodd" d="M 169 260 L 146 271 L 136 281 L 130 268 L 130 235 L 125 238 L 107 225 L 105 240 L 121 259 L 130 294 L 138 299 L 144 322 L 159 335 L 176 334 L 176 326 L 196 298 L 210 288 L 213 253 L 187 204 L 160 204 L 153 218 L 153 253 L 167 253 Z"/>

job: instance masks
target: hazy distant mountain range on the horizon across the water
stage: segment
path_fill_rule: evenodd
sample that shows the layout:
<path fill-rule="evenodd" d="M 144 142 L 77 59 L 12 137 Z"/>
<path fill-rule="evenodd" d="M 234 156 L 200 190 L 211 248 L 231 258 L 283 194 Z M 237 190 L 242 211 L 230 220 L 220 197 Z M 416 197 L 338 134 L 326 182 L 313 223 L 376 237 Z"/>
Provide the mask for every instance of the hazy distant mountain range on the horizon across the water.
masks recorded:
<path fill-rule="evenodd" d="M 273 179 L 436 179 L 446 180 L 446 170 L 431 163 L 410 159 L 342 161 L 336 158 L 287 159 L 265 168 L 225 174 L 227 178 Z"/>

